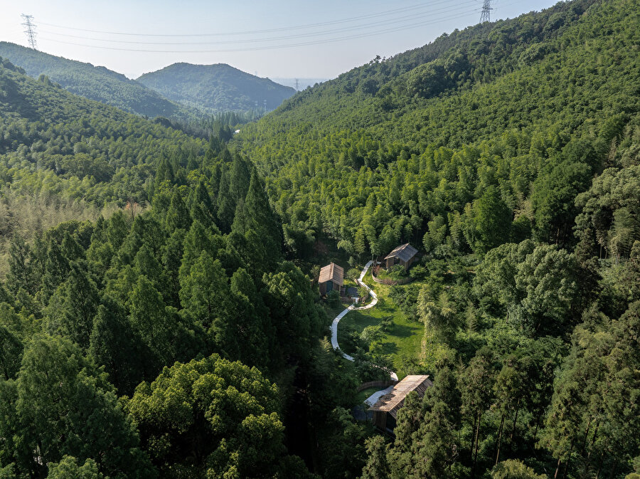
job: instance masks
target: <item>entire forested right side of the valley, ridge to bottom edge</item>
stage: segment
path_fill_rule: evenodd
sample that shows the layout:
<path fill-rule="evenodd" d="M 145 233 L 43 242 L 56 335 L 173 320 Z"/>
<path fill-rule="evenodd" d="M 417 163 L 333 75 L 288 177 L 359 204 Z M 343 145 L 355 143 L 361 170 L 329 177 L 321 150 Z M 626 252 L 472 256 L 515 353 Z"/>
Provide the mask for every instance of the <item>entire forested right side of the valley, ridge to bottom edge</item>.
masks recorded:
<path fill-rule="evenodd" d="M 434 388 L 362 478 L 640 472 L 639 52 L 638 0 L 563 2 L 374 59 L 233 140 L 290 254 L 422 251 L 426 284 L 388 298 Z M 388 322 L 351 349 L 383 362 Z"/>

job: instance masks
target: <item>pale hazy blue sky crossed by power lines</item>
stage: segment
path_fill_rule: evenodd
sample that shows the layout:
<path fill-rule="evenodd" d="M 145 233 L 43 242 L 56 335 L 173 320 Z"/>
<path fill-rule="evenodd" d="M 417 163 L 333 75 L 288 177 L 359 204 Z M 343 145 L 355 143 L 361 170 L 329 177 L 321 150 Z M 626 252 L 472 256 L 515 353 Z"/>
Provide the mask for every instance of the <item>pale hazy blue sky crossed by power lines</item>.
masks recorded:
<path fill-rule="evenodd" d="M 482 7 L 481 0 L 1 1 L 1 41 L 26 45 L 20 14 L 31 14 L 39 50 L 129 78 L 178 61 L 229 63 L 262 77 L 334 78 L 473 25 Z M 492 19 L 553 4 L 496 0 Z"/>

